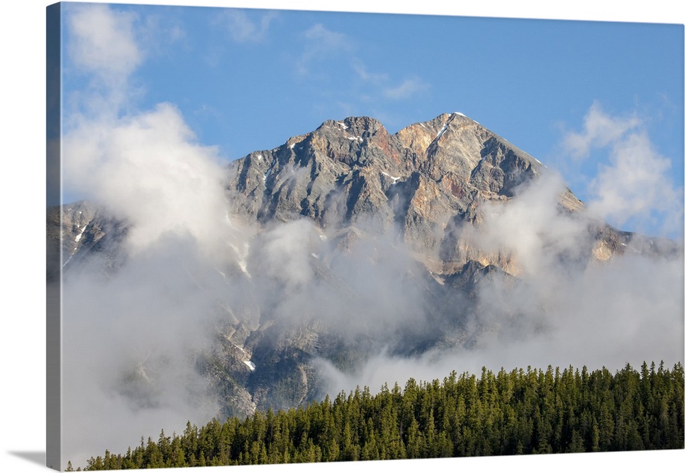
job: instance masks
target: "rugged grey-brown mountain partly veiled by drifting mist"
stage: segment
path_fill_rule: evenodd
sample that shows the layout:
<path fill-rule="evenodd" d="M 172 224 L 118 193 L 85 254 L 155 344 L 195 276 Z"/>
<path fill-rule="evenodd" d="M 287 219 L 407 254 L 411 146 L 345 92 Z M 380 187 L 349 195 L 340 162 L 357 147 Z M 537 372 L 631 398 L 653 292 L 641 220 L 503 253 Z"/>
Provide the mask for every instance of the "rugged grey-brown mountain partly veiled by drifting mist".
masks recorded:
<path fill-rule="evenodd" d="M 544 331 L 543 303 L 495 303 L 526 294 L 541 265 L 573 274 L 625 253 L 677 251 L 593 218 L 565 186 L 534 192 L 548 175 L 459 113 L 395 134 L 369 117 L 328 120 L 228 164 L 230 220 L 249 231 L 227 242 L 214 279 L 197 279 L 216 303 L 212 342 L 193 365 L 221 414 L 303 405 L 325 393 L 325 370 L 355 372 L 378 353 L 416 357 L 477 346 L 486 333 Z M 88 264 L 110 275 L 127 264 L 129 224 L 106 209 L 62 205 L 47 223 L 65 281 Z M 533 225 L 536 259 L 508 240 L 521 223 Z M 152 365 L 139 361 L 121 392 L 149 392 Z"/>

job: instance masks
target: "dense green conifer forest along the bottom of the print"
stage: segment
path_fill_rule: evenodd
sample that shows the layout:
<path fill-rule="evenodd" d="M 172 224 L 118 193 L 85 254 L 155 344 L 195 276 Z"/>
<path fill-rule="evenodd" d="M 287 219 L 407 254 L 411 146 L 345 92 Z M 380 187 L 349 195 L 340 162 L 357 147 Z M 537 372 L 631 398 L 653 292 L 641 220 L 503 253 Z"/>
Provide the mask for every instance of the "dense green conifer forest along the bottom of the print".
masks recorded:
<path fill-rule="evenodd" d="M 188 422 L 84 470 L 684 448 L 683 366 L 452 372 L 245 420 Z M 71 463 L 69 464 L 71 470 Z"/>

